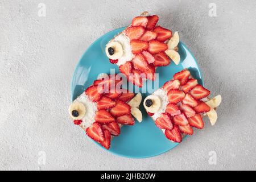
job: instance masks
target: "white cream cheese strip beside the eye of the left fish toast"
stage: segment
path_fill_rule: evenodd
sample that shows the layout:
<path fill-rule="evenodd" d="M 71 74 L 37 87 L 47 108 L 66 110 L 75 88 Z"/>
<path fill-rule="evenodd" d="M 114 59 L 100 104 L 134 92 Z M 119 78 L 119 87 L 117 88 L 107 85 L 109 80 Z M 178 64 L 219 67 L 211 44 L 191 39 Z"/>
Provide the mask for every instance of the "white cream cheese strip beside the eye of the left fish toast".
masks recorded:
<path fill-rule="evenodd" d="M 86 112 L 84 118 L 82 118 L 81 125 L 86 129 L 95 122 L 94 118 L 97 112 L 97 104 L 92 102 L 85 93 L 82 93 L 81 96 L 77 97 L 76 101 L 84 104 Z"/>

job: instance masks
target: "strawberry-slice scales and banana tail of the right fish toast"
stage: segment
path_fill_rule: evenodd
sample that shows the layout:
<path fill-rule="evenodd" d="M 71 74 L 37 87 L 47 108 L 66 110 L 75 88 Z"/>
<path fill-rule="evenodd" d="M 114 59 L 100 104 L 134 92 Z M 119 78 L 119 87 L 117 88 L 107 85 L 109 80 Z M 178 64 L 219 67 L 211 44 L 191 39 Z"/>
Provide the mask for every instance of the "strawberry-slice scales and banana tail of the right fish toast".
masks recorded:
<path fill-rule="evenodd" d="M 199 85 L 188 69 L 176 73 L 160 89 L 167 93 L 169 103 L 164 108 L 165 113 L 155 118 L 155 125 L 172 142 L 180 143 L 185 135 L 193 135 L 193 127 L 203 129 L 205 115 L 208 115 L 212 125 L 216 122 L 216 107 L 221 103 L 221 96 L 209 99 L 210 91 Z M 146 104 L 144 107 L 147 110 Z M 155 113 L 157 112 L 158 110 Z M 155 113 L 148 112 L 153 119 Z"/>

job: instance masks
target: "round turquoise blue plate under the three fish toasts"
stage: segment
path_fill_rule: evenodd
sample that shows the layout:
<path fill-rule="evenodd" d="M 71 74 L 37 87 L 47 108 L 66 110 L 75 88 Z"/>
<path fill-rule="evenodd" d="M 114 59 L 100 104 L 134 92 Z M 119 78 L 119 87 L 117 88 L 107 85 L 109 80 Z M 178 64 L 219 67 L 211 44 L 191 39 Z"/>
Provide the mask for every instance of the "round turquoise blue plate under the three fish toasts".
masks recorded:
<path fill-rule="evenodd" d="M 110 73 L 111 68 L 115 69 L 115 73 L 119 73 L 117 65 L 109 63 L 109 59 L 105 55 L 105 46 L 109 40 L 124 29 L 125 27 L 118 28 L 103 35 L 82 55 L 72 78 L 72 101 L 82 94 L 89 85 L 93 84 L 93 81 L 97 79 L 100 73 Z M 188 68 L 193 77 L 197 78 L 200 84 L 203 84 L 199 65 L 183 43 L 179 43 L 179 53 L 181 57 L 179 65 L 175 65 L 172 62 L 168 67 L 156 69 L 156 73 L 159 73 L 159 86 L 171 80 L 176 72 L 184 68 Z M 144 87 L 146 87 L 146 84 L 144 84 Z M 143 98 L 147 95 L 148 93 L 142 94 Z M 144 110 L 143 105 L 141 105 L 140 109 L 142 110 L 143 121 L 141 123 L 135 122 L 134 126 L 123 126 L 121 134 L 112 139 L 109 152 L 127 158 L 150 158 L 163 154 L 177 146 L 178 143 L 170 142 L 162 131 L 155 126 L 155 123 Z"/>

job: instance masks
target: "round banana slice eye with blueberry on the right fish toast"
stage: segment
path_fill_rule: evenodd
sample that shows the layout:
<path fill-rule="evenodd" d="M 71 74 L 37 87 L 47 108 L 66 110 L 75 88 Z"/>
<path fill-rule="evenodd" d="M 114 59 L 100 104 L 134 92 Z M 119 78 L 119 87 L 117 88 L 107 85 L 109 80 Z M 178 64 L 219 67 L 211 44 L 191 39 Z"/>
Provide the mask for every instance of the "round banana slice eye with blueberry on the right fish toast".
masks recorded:
<path fill-rule="evenodd" d="M 144 99 L 143 105 L 150 113 L 156 113 L 161 106 L 161 100 L 158 96 L 150 95 Z"/>

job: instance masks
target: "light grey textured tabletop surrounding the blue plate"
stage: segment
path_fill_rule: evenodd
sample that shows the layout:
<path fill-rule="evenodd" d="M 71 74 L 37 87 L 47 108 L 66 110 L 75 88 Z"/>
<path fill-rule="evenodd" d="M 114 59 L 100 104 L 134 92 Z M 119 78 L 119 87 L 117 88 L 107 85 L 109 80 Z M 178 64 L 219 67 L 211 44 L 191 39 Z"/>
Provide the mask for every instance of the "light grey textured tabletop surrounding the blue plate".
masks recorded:
<path fill-rule="evenodd" d="M 46 17 L 38 4 L 46 4 Z M 150 3 L 148 3 L 150 2 Z M 209 3 L 217 17 L 210 17 Z M 0 1 L 0 169 L 256 169 L 256 1 Z M 218 123 L 150 159 L 101 150 L 68 117 L 77 61 L 101 35 L 144 10 L 179 30 L 205 85 L 223 98 Z M 38 163 L 39 151 L 46 164 Z M 210 165 L 209 152 L 217 154 Z"/>

